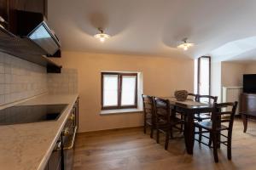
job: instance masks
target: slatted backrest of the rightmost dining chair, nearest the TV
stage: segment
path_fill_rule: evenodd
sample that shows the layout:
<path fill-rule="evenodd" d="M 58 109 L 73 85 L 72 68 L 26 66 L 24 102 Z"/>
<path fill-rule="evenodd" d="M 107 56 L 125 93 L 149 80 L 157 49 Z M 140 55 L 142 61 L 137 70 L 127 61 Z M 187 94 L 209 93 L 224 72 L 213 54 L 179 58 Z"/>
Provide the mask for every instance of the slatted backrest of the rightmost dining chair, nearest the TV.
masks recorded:
<path fill-rule="evenodd" d="M 214 111 L 212 112 L 212 129 L 216 130 L 218 128 L 219 122 L 228 122 L 229 130 L 232 131 L 233 128 L 233 122 L 236 114 L 236 108 L 237 108 L 238 102 L 234 103 L 221 103 L 217 104 L 214 103 Z M 227 110 L 230 107 L 230 111 L 224 111 Z"/>

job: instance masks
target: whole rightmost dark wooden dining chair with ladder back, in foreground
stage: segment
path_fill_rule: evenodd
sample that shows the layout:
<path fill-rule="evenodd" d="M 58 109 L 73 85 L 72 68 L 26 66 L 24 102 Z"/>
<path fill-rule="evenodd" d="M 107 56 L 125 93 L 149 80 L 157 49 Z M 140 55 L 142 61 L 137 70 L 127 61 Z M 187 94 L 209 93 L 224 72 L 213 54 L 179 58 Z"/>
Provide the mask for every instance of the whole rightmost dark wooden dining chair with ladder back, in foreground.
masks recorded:
<path fill-rule="evenodd" d="M 196 122 L 195 127 L 200 127 L 204 131 L 197 132 L 201 133 L 201 135 L 207 139 L 209 139 L 208 146 L 213 145 L 213 155 L 214 155 L 214 161 L 218 162 L 218 144 L 224 144 L 227 146 L 227 155 L 228 159 L 231 159 L 231 140 L 232 140 L 232 129 L 233 129 L 233 122 L 234 117 L 236 114 L 236 107 L 237 107 L 237 101 L 234 103 L 223 103 L 223 104 L 214 104 L 214 111 L 212 112 L 212 121 L 205 121 L 205 122 Z M 223 110 L 226 111 L 223 111 Z M 230 111 L 229 111 L 230 109 Z M 223 123 L 227 123 L 223 124 Z M 224 135 L 222 132 L 227 131 L 228 135 Z M 203 135 L 202 133 L 210 133 L 210 137 L 207 137 L 206 135 Z M 220 136 L 224 137 L 225 141 L 221 141 L 218 139 L 218 134 Z M 198 139 L 195 139 L 199 141 L 201 144 L 206 144 L 201 142 Z"/>

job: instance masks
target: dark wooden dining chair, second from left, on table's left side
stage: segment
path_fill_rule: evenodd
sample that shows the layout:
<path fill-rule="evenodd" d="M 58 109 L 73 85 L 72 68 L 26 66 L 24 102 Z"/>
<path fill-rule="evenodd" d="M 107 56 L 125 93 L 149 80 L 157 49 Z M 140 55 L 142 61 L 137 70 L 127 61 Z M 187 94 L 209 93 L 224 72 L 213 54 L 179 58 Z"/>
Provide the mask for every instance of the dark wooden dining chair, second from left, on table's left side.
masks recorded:
<path fill-rule="evenodd" d="M 168 149 L 169 139 L 172 137 L 172 128 L 183 124 L 183 120 L 175 116 L 175 111 L 171 110 L 168 99 L 154 98 L 155 108 L 155 128 L 157 131 L 156 142 L 159 144 L 160 132 L 166 133 L 165 150 Z"/>

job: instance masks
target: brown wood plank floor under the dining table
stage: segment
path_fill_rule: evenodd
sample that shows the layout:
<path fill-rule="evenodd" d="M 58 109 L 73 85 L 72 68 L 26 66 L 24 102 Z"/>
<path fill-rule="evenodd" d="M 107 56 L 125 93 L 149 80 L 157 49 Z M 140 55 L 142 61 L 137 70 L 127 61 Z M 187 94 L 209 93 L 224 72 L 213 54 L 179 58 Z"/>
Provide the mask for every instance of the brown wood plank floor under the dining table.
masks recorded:
<path fill-rule="evenodd" d="M 256 123 L 248 122 L 242 133 L 241 120 L 236 119 L 233 131 L 232 161 L 226 147 L 218 152 L 219 162 L 213 160 L 212 150 L 195 142 L 194 155 L 186 154 L 183 139 L 171 139 L 164 150 L 144 134 L 142 128 L 79 133 L 75 144 L 73 170 L 162 170 L 162 169 L 256 169 Z"/>

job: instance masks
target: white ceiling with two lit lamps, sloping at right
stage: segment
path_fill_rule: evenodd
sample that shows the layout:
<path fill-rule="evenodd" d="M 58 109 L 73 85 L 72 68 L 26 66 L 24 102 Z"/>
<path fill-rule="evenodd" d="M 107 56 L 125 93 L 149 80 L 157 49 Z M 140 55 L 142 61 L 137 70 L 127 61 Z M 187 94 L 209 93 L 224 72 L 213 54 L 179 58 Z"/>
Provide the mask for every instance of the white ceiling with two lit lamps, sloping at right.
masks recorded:
<path fill-rule="evenodd" d="M 255 9 L 255 0 L 49 0 L 48 20 L 64 50 L 250 60 Z M 97 27 L 112 37 L 99 42 Z M 195 43 L 186 53 L 183 37 Z"/>

